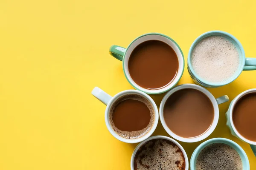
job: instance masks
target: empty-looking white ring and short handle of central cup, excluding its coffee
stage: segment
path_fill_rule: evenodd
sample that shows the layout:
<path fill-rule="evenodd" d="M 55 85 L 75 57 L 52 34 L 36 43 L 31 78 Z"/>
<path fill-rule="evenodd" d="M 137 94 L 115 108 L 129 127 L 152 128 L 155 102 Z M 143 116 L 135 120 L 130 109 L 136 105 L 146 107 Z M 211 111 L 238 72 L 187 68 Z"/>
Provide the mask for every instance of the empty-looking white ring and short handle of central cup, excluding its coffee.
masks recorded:
<path fill-rule="evenodd" d="M 169 129 L 169 127 L 166 125 L 166 122 L 163 118 L 163 108 L 164 105 L 166 103 L 166 100 L 169 98 L 169 96 L 171 96 L 175 91 L 181 90 L 181 89 L 186 89 L 186 88 L 192 88 L 192 89 L 196 89 L 198 91 L 201 91 L 202 93 L 204 93 L 212 102 L 212 106 L 214 109 L 214 118 L 213 118 L 213 122 L 212 125 L 209 127 L 209 129 L 202 135 L 197 136 L 195 138 L 184 138 L 181 136 L 176 135 L 175 133 L 172 132 L 172 130 Z M 170 90 L 162 99 L 162 102 L 160 104 L 160 109 L 159 109 L 159 116 L 160 116 L 160 121 L 163 125 L 163 128 L 166 130 L 166 132 L 172 136 L 174 139 L 177 139 L 181 142 L 198 142 L 201 141 L 205 138 L 207 138 L 215 129 L 215 127 L 217 126 L 218 123 L 218 118 L 219 118 L 219 109 L 218 109 L 218 105 L 224 102 L 229 101 L 229 98 L 227 95 L 221 96 L 217 99 L 214 98 L 214 96 L 205 88 L 199 86 L 199 85 L 194 85 L 194 84 L 184 84 L 184 85 L 178 85 L 177 87 L 173 88 L 172 90 Z"/>

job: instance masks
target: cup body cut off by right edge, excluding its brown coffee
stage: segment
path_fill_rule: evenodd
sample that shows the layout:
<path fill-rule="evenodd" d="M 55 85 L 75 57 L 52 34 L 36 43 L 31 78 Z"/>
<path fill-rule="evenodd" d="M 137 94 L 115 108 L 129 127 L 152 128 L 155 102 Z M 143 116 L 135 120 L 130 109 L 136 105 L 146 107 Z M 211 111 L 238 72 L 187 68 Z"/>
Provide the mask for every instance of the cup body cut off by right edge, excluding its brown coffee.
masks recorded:
<path fill-rule="evenodd" d="M 256 142 L 255 141 L 250 141 L 246 138 L 244 138 L 244 136 L 242 136 L 237 130 L 236 127 L 234 126 L 234 122 L 233 122 L 233 109 L 236 105 L 236 102 L 244 95 L 249 94 L 249 93 L 255 93 L 256 92 L 256 88 L 253 89 L 249 89 L 247 91 L 242 92 L 241 94 L 239 94 L 238 96 L 235 97 L 235 99 L 232 100 L 232 102 L 230 103 L 230 106 L 228 108 L 228 111 L 226 112 L 226 118 L 227 118 L 227 127 L 230 128 L 231 134 L 233 136 L 236 136 L 238 139 L 250 144 L 250 147 L 253 150 L 254 155 L 256 156 Z M 255 132 L 256 133 L 256 132 Z"/>

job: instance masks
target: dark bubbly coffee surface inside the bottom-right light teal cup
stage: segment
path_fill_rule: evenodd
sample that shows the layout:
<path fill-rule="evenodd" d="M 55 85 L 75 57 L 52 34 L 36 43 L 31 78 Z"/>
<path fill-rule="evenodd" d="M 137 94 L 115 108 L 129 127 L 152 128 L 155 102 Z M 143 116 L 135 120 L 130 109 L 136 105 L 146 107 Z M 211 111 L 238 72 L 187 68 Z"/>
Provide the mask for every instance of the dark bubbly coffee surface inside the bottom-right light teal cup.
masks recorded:
<path fill-rule="evenodd" d="M 239 153 L 233 147 L 215 143 L 199 153 L 196 170 L 243 170 L 243 164 Z"/>

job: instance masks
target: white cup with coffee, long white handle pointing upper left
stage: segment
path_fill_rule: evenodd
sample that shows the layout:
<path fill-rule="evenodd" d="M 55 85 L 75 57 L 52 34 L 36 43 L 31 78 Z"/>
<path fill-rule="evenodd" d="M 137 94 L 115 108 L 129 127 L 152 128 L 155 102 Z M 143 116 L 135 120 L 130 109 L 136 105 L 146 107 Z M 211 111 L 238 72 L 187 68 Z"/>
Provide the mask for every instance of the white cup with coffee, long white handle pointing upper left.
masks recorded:
<path fill-rule="evenodd" d="M 144 92 L 126 90 L 112 97 L 95 87 L 92 94 L 107 105 L 105 122 L 116 139 L 126 143 L 138 143 L 151 136 L 156 129 L 157 105 Z"/>

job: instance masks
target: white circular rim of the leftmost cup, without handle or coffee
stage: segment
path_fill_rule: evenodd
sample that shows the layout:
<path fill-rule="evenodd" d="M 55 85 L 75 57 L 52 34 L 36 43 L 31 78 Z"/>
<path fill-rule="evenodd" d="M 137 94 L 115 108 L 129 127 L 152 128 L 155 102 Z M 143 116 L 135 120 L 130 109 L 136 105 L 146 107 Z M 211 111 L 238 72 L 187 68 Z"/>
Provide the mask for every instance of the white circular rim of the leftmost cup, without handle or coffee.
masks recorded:
<path fill-rule="evenodd" d="M 118 134 L 116 134 L 116 132 L 113 130 L 113 128 L 111 127 L 110 125 L 110 122 L 109 122 L 109 111 L 110 111 L 110 108 L 111 106 L 113 105 L 113 103 L 119 99 L 119 97 L 123 96 L 123 95 L 126 95 L 126 94 L 138 94 L 140 96 L 143 96 L 145 97 L 149 102 L 151 102 L 151 105 L 153 106 L 154 108 L 154 116 L 155 116 L 155 119 L 154 119 L 154 124 L 153 126 L 151 127 L 151 129 L 148 131 L 148 133 L 146 133 L 144 136 L 138 138 L 138 139 L 125 139 L 121 136 L 119 136 Z M 107 125 L 107 128 L 109 130 L 109 132 L 118 140 L 122 141 L 122 142 L 125 142 L 125 143 L 138 143 L 138 142 L 141 142 L 145 139 L 147 139 L 149 136 L 152 135 L 152 133 L 154 132 L 154 130 L 156 129 L 157 127 L 157 123 L 158 123 L 158 119 L 159 119 L 159 114 L 158 114 L 158 109 L 157 109 L 157 105 L 156 103 L 154 102 L 154 100 L 148 96 L 148 94 L 145 94 L 144 92 L 142 91 L 137 91 L 137 90 L 125 90 L 125 91 L 121 91 L 119 92 L 118 94 L 116 94 L 115 96 L 112 97 L 112 99 L 109 101 L 107 107 L 106 107 L 106 110 L 105 110 L 105 123 Z"/>

